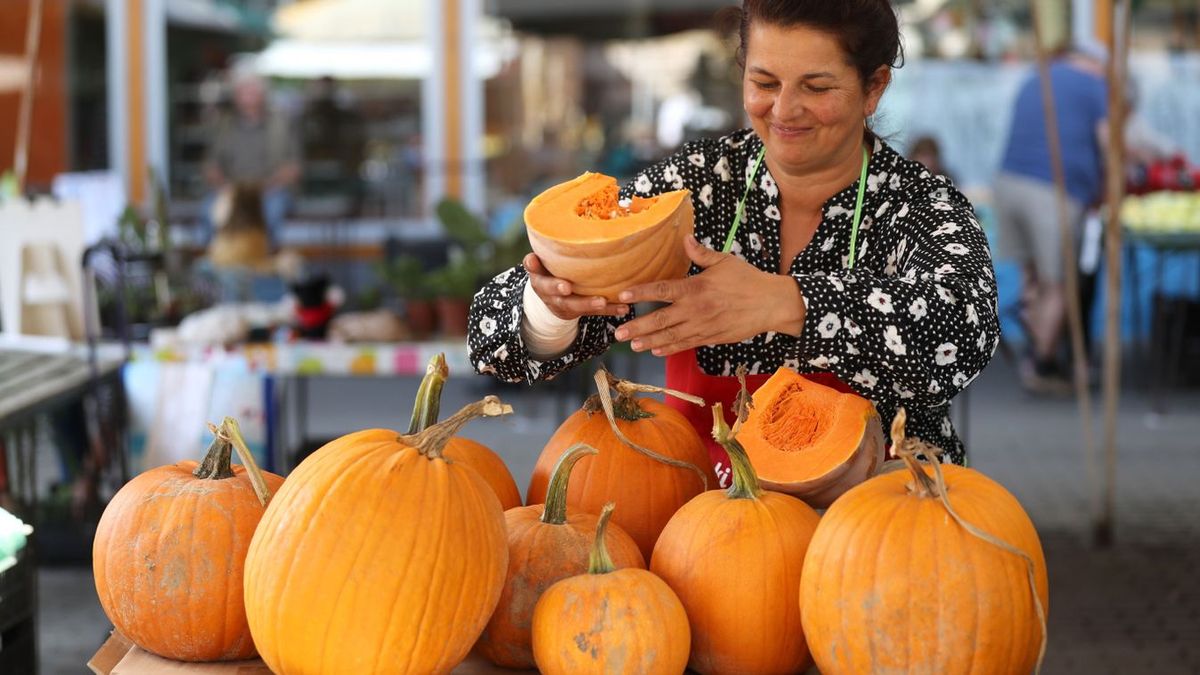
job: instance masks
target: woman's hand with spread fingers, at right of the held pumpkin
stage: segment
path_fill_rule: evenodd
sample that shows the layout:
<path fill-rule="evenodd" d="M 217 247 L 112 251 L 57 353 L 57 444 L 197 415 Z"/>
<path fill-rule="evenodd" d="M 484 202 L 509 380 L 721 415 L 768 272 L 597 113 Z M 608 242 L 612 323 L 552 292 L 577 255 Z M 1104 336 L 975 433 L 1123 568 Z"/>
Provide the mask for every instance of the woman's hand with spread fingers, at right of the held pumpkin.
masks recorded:
<path fill-rule="evenodd" d="M 671 304 L 625 323 L 617 329 L 617 340 L 630 341 L 635 352 L 665 357 L 702 345 L 739 342 L 768 330 L 800 334 L 804 300 L 794 279 L 708 249 L 692 235 L 684 240 L 684 249 L 702 271 L 622 291 L 619 300 L 625 304 Z"/>

